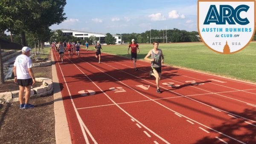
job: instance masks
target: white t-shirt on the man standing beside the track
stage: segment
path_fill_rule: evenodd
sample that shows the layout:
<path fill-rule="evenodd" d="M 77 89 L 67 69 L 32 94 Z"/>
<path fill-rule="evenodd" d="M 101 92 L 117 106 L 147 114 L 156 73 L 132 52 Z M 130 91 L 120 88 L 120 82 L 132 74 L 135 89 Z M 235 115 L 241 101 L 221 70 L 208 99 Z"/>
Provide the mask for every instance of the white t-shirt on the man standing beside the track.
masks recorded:
<path fill-rule="evenodd" d="M 16 74 L 17 79 L 29 79 L 31 76 L 29 75 L 28 68 L 32 67 L 31 59 L 26 55 L 17 56 L 14 66 L 16 66 Z"/>

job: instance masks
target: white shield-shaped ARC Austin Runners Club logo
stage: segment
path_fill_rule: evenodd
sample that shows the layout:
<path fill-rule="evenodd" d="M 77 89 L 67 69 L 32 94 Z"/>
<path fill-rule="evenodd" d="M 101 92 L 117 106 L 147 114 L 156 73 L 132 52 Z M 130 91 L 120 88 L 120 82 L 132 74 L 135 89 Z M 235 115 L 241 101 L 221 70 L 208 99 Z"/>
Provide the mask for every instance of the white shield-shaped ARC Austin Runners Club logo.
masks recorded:
<path fill-rule="evenodd" d="M 255 0 L 198 0 L 198 32 L 209 49 L 233 54 L 255 32 Z"/>

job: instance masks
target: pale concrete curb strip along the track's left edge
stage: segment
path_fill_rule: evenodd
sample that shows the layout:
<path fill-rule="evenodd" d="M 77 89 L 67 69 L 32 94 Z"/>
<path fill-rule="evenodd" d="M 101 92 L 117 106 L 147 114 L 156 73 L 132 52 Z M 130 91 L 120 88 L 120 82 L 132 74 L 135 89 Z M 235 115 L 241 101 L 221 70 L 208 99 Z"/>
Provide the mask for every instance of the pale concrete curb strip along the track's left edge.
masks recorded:
<path fill-rule="evenodd" d="M 56 144 L 72 144 L 70 131 L 67 124 L 67 117 L 64 109 L 61 88 L 58 81 L 56 66 L 51 52 L 52 58 L 52 82 L 53 82 L 53 98 L 54 98 L 54 114 L 55 114 L 55 140 Z"/>

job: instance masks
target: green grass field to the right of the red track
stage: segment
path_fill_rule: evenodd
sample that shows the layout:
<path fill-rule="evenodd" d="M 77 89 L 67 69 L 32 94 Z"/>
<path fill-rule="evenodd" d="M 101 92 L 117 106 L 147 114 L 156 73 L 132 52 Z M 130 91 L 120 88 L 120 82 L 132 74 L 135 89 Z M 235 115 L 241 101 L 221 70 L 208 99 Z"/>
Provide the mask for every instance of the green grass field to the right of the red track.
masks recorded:
<path fill-rule="evenodd" d="M 153 45 L 139 44 L 139 48 L 138 59 L 144 59 Z M 231 55 L 213 52 L 204 43 L 160 43 L 158 48 L 163 50 L 166 64 L 256 82 L 256 42 Z M 102 52 L 131 57 L 127 55 L 128 45 L 102 45 L 102 49 Z"/>

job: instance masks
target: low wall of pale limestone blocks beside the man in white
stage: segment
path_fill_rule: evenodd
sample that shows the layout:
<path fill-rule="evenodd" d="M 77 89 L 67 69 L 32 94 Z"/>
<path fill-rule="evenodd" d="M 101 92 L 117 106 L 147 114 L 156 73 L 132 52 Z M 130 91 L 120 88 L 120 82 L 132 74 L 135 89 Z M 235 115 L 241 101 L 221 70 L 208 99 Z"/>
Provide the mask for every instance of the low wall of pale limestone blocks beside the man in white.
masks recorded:
<path fill-rule="evenodd" d="M 13 81 L 13 80 L 12 80 Z M 42 85 L 31 89 L 30 98 L 36 98 L 51 94 L 53 91 L 52 79 L 35 78 L 35 81 L 42 82 Z M 25 92 L 24 92 L 25 95 Z M 19 101 L 19 90 L 0 93 L 0 104 Z"/>

